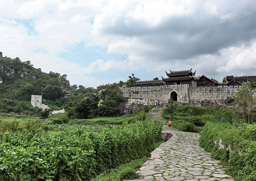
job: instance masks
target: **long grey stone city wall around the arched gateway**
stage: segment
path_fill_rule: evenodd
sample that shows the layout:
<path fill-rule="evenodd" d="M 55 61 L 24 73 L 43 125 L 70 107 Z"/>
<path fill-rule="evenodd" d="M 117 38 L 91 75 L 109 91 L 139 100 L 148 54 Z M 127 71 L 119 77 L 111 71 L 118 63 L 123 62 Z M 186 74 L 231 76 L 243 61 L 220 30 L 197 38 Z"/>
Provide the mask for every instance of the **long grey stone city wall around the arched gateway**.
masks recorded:
<path fill-rule="evenodd" d="M 151 87 L 121 88 L 125 97 L 133 99 L 151 99 L 166 102 L 171 93 L 177 93 L 178 105 L 223 107 L 233 99 L 239 86 L 205 86 L 169 85 Z"/>

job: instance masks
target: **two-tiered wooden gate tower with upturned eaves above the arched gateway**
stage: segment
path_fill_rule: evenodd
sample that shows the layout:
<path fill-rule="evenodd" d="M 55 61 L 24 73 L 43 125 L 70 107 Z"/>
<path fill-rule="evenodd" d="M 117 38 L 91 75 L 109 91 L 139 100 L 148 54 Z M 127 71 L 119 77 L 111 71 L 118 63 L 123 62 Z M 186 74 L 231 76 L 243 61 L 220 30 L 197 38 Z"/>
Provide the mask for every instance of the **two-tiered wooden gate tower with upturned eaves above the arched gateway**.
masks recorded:
<path fill-rule="evenodd" d="M 162 79 L 166 85 L 188 84 L 190 87 L 196 87 L 198 79 L 194 77 L 195 74 L 196 71 L 192 72 L 192 68 L 187 71 L 170 71 L 170 73 L 166 72 L 168 78 L 162 76 Z"/>

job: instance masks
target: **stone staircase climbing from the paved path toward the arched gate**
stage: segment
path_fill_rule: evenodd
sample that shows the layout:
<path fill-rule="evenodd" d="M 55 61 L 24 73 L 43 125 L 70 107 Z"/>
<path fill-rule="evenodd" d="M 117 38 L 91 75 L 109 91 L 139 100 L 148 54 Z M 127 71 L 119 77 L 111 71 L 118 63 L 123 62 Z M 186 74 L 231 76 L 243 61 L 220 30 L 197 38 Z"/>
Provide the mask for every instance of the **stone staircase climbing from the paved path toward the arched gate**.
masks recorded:
<path fill-rule="evenodd" d="M 168 123 L 161 118 L 161 112 L 166 106 L 157 106 L 151 109 L 151 111 L 148 113 L 148 116 L 151 120 L 160 120 L 163 122 L 163 131 L 170 131 L 170 130 L 177 130 L 173 126 L 169 127 Z"/>

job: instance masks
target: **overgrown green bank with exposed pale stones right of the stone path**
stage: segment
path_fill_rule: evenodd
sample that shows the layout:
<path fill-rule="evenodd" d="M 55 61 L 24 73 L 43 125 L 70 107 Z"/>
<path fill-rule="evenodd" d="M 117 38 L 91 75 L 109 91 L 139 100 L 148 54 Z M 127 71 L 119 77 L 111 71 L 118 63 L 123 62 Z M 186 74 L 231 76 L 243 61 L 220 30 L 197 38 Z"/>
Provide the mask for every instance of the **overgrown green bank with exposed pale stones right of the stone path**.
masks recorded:
<path fill-rule="evenodd" d="M 221 160 L 236 180 L 256 181 L 255 135 L 255 124 L 235 127 L 230 123 L 208 122 L 203 128 L 200 146 Z"/>

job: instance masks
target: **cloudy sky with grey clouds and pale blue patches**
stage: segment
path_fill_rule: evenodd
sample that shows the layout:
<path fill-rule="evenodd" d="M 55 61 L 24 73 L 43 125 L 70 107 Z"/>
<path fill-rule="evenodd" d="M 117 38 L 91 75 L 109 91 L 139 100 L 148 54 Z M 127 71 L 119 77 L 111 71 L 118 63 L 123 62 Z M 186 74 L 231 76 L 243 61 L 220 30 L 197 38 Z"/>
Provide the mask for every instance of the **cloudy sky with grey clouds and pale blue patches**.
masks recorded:
<path fill-rule="evenodd" d="M 94 87 L 256 75 L 255 0 L 0 0 L 0 51 Z"/>

